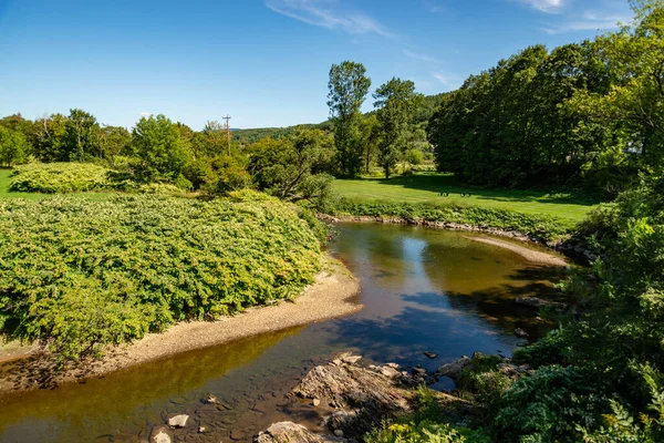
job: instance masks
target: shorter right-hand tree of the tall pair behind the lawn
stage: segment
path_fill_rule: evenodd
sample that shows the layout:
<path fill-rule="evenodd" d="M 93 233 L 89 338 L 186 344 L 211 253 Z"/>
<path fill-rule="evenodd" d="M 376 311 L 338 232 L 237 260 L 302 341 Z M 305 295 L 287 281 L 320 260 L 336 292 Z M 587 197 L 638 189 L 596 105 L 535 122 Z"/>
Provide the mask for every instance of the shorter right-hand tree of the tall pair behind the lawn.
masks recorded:
<path fill-rule="evenodd" d="M 424 96 L 415 92 L 415 83 L 412 81 L 393 78 L 378 87 L 373 97 L 376 100 L 374 106 L 378 110 L 382 132 L 378 161 L 385 178 L 390 178 L 406 148 L 404 137 L 408 123 Z"/>

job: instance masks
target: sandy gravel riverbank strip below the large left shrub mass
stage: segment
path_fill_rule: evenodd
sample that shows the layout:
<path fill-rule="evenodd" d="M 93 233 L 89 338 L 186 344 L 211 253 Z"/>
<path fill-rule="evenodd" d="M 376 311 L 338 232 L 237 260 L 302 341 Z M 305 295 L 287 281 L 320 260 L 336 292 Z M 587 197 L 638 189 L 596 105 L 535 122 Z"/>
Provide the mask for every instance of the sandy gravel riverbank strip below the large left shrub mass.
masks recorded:
<path fill-rule="evenodd" d="M 6 361 L 0 367 L 0 393 L 100 377 L 176 353 L 344 317 L 361 310 L 357 279 L 332 257 L 325 256 L 323 260 L 323 270 L 317 276 L 315 282 L 292 302 L 251 308 L 218 321 L 179 323 L 163 333 L 151 333 L 132 344 L 113 348 L 102 359 L 87 360 L 62 372 L 51 371 L 52 363 L 34 347 L 18 348 L 15 343 L 9 343 L 0 348 L 0 361 Z M 9 359 L 12 361 L 7 362 Z"/>

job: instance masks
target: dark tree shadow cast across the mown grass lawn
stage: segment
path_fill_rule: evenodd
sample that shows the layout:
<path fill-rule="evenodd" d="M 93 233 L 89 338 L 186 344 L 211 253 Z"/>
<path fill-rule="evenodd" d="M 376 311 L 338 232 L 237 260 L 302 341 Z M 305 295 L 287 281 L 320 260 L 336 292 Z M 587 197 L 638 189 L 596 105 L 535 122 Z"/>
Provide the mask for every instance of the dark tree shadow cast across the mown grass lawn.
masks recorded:
<path fill-rule="evenodd" d="M 450 197 L 469 193 L 475 198 L 497 202 L 537 202 L 582 206 L 592 206 L 600 203 L 598 198 L 579 190 L 551 193 L 537 189 L 507 189 L 473 186 L 460 183 L 452 174 L 422 173 L 412 176 L 396 176 L 390 179 L 365 178 L 364 181 L 381 185 L 400 186 L 408 189 L 428 190 L 436 194 L 448 193 Z"/>

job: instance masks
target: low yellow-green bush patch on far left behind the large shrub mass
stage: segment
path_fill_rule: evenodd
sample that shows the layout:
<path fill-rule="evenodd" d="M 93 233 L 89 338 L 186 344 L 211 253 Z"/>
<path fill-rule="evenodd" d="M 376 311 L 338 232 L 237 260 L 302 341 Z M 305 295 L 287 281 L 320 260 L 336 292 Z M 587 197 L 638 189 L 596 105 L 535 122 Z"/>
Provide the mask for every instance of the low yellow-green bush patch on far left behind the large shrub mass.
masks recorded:
<path fill-rule="evenodd" d="M 90 163 L 30 163 L 14 168 L 10 190 L 79 193 L 111 188 L 108 169 Z"/>

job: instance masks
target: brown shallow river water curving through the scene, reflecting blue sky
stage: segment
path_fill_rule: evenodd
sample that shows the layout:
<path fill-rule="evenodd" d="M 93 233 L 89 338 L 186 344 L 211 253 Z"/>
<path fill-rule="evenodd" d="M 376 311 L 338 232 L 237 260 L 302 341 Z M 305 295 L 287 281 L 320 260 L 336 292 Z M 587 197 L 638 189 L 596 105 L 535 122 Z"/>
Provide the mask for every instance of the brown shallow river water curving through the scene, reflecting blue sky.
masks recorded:
<path fill-rule="evenodd" d="M 0 398 L 0 442 L 141 442 L 169 415 L 190 424 L 176 441 L 251 441 L 279 420 L 315 426 L 311 408 L 283 395 L 313 364 L 353 350 L 367 360 L 435 369 L 474 351 L 510 354 L 548 326 L 513 303 L 547 296 L 559 270 L 473 241 L 468 234 L 341 225 L 331 246 L 362 281 L 365 309 L 339 320 L 242 339 L 84 383 Z M 423 351 L 439 354 L 428 360 Z M 442 380 L 436 388 L 450 388 Z M 220 404 L 206 404 L 214 394 Z M 197 433 L 205 426 L 206 433 Z"/>

